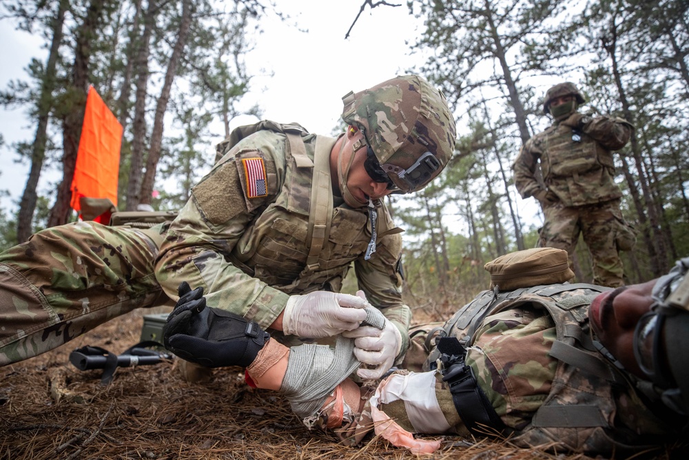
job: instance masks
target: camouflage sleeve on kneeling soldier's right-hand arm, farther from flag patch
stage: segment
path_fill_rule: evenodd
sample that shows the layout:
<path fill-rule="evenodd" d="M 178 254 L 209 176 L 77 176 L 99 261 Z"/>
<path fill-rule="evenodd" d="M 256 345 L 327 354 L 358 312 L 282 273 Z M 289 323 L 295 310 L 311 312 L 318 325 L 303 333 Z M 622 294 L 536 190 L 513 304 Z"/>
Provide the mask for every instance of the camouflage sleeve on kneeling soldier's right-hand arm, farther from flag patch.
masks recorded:
<path fill-rule="evenodd" d="M 399 233 L 388 234 L 380 239 L 371 259 L 364 260 L 362 256 L 354 262 L 359 288 L 371 305 L 400 330 L 402 350 L 399 357 L 403 357 L 409 347 L 411 326 L 411 309 L 402 303 L 401 255 L 402 237 Z"/>

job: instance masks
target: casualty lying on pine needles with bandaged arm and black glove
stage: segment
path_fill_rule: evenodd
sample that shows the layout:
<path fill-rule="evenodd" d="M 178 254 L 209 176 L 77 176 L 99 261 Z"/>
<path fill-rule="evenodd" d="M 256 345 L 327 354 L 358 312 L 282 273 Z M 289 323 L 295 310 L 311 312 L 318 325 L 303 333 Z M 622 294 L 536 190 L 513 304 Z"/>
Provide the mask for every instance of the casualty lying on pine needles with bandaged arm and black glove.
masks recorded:
<path fill-rule="evenodd" d="M 689 258 L 665 277 L 615 290 L 500 274 L 534 261 L 564 267 L 548 278 L 573 277 L 564 250 L 496 259 L 486 268 L 498 268 L 491 279 L 506 289 L 482 292 L 444 323 L 425 362 L 431 370 L 393 372 L 375 390 L 345 378 L 358 367 L 348 339 L 334 349 L 287 348 L 256 323 L 205 307 L 203 292 L 188 286 L 165 344 L 206 366 L 248 366 L 249 384 L 284 393 L 307 426 L 351 445 L 375 431 L 428 453 L 440 443 L 411 432 L 499 433 L 523 447 L 624 454 L 678 439 L 688 413 Z"/>

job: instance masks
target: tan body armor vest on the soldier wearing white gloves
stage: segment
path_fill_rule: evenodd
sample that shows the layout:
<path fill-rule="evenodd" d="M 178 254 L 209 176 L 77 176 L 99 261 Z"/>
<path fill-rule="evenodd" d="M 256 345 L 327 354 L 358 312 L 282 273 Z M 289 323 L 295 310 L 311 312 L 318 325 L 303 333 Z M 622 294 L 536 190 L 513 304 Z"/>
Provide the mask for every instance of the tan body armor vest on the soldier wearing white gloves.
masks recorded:
<path fill-rule="evenodd" d="M 270 203 L 225 257 L 251 277 L 287 294 L 339 292 L 352 261 L 366 251 L 371 221 L 366 208 L 333 208 L 329 155 L 333 139 L 309 134 L 298 125 L 263 121 L 218 145 L 222 158 L 236 142 L 258 129 L 287 137 L 285 181 Z M 237 134 L 236 136 L 234 134 Z M 237 152 L 241 157 L 243 152 Z M 255 155 L 255 152 L 249 154 Z M 310 192 L 299 184 L 310 183 Z M 378 240 L 401 232 L 381 204 Z"/>

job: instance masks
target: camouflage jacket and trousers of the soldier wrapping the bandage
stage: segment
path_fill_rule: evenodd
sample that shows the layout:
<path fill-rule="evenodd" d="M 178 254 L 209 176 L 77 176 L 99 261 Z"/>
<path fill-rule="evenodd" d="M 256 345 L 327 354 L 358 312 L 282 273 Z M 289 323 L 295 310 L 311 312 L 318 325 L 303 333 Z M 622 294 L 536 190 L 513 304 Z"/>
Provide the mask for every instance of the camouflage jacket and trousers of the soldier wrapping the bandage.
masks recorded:
<path fill-rule="evenodd" d="M 302 139 L 313 161 L 317 137 Z M 336 141 L 320 139 L 323 152 Z M 265 167 L 262 197 L 248 196 L 247 158 Z M 411 312 L 402 303 L 398 273 L 401 230 L 387 208 L 378 212 L 376 252 L 364 261 L 371 239 L 366 208 L 336 203 L 318 266 L 305 268 L 311 173 L 290 158 L 285 134 L 258 131 L 194 187 L 172 224 L 134 230 L 74 223 L 3 252 L 0 366 L 52 350 L 134 308 L 165 303 L 165 293 L 174 299 L 181 281 L 203 286 L 209 306 L 267 328 L 289 294 L 339 291 L 351 262 L 369 301 L 407 337 Z M 406 349 L 403 343 L 402 353 Z"/>

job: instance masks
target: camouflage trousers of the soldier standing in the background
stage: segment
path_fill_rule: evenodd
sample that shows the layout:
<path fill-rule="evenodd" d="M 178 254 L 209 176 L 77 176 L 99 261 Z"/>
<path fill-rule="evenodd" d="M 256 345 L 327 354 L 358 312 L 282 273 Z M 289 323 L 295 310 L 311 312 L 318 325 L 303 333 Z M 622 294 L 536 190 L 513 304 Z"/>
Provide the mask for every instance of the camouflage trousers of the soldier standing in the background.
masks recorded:
<path fill-rule="evenodd" d="M 619 200 L 591 206 L 555 204 L 544 208 L 543 213 L 545 223 L 541 237 L 544 246 L 566 250 L 570 268 L 573 268 L 572 254 L 581 232 L 593 259 L 593 283 L 613 288 L 624 284 L 624 268 L 616 243 L 618 229 L 624 222 Z"/>

